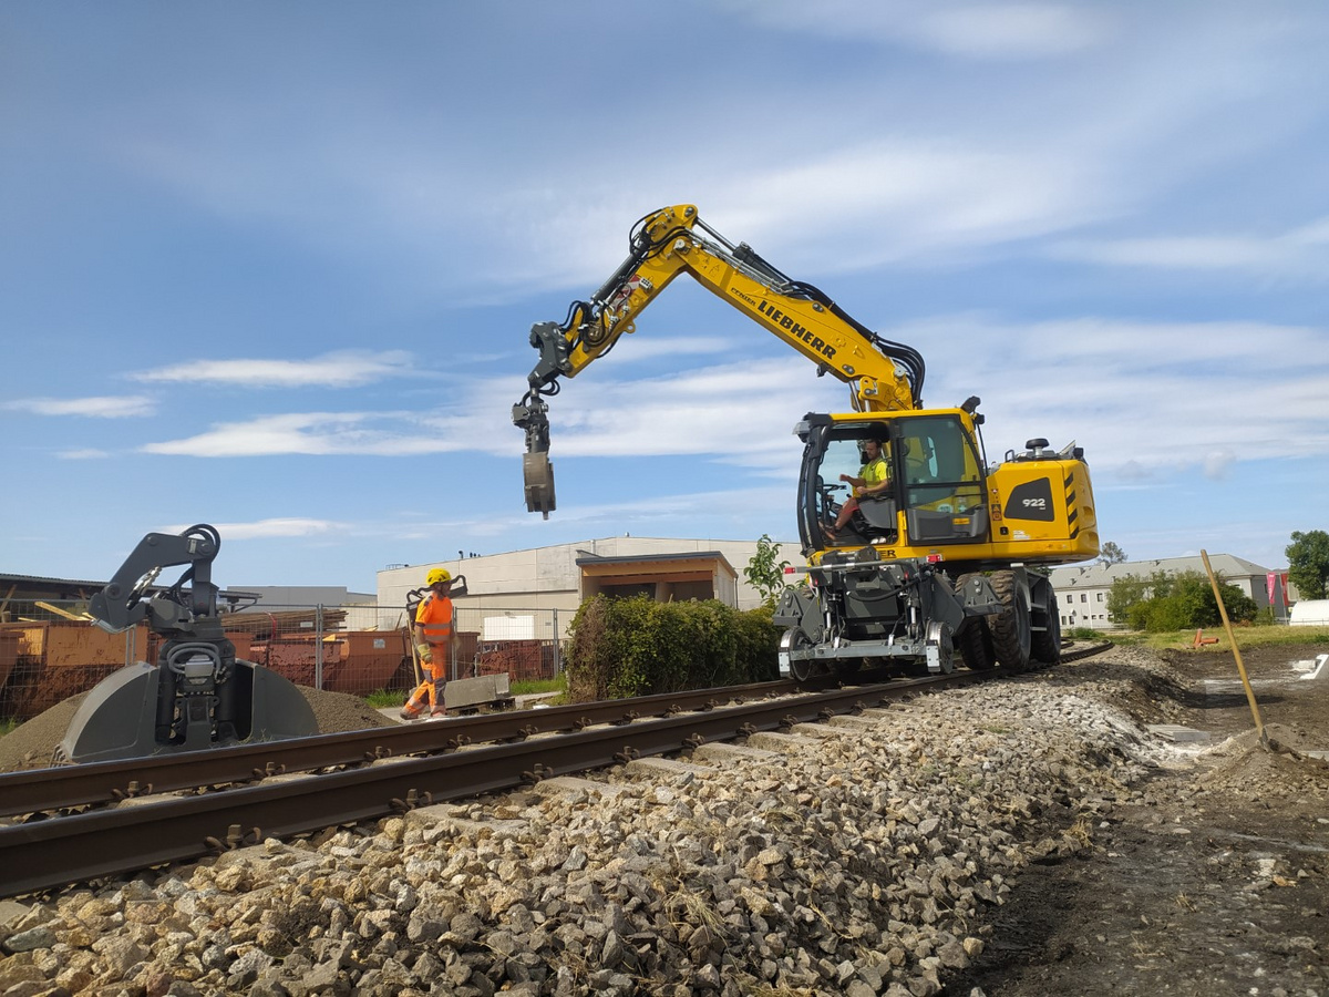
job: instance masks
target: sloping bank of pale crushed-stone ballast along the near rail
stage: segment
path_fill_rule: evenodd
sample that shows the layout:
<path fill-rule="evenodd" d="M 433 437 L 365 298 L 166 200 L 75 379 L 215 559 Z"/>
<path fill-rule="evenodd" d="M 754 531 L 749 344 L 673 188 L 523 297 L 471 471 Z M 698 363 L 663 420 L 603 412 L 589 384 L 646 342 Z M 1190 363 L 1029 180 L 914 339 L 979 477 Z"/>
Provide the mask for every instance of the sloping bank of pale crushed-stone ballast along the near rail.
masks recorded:
<path fill-rule="evenodd" d="M 1055 674 L 0 911 L 0 994 L 937 994 L 1166 750 Z"/>

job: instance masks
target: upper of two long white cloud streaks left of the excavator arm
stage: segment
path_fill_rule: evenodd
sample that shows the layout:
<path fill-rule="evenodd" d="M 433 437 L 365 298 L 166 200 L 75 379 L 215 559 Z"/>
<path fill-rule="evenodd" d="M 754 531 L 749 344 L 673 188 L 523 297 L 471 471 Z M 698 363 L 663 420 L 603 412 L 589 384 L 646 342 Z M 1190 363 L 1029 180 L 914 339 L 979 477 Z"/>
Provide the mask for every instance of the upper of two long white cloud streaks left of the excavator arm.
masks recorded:
<path fill-rule="evenodd" d="M 193 360 L 132 374 L 134 380 L 239 384 L 245 387 L 354 388 L 385 378 L 415 375 L 411 354 L 342 350 L 308 360 Z"/>

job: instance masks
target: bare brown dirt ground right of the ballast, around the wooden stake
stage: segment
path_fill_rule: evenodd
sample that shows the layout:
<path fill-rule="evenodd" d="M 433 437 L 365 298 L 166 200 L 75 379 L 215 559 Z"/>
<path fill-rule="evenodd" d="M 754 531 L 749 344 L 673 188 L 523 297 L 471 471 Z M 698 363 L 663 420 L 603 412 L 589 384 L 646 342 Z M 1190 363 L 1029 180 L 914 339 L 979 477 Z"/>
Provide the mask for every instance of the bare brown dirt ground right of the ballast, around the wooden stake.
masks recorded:
<path fill-rule="evenodd" d="M 1329 748 L 1329 674 L 1293 669 L 1325 651 L 1243 651 L 1265 732 L 1292 752 L 1259 742 L 1231 653 L 1135 669 L 1138 718 L 1209 738 L 1177 743 L 1130 803 L 1094 815 L 1091 853 L 1029 868 L 946 993 L 1329 997 L 1329 763 L 1306 754 Z"/>

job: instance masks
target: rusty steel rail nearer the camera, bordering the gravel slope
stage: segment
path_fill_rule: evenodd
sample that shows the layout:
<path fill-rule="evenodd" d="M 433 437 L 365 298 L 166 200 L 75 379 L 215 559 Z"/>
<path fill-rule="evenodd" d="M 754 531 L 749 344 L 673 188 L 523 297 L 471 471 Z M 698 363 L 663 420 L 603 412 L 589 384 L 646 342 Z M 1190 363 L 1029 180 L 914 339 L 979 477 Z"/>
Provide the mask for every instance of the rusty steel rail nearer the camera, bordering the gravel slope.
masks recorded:
<path fill-rule="evenodd" d="M 827 718 L 940 685 L 982 679 L 956 671 L 788 699 L 763 699 L 594 727 L 540 740 L 401 758 L 221 794 L 97 810 L 0 828 L 0 896 L 114 876 L 210 852 L 372 820 L 425 803 L 510 790 L 549 775 L 664 755 Z"/>

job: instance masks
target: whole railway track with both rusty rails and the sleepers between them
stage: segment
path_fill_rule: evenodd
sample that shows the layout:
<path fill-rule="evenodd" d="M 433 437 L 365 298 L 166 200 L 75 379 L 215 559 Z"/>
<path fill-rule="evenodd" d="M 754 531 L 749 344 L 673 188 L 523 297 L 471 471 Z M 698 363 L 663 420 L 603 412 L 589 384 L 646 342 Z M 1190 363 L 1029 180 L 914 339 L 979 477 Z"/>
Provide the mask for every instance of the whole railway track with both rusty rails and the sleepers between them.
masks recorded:
<path fill-rule="evenodd" d="M 1067 649 L 1063 659 L 1106 646 Z M 0 896 L 682 752 L 994 674 L 813 691 L 760 683 L 0 775 L 4 811 L 24 815 L 0 827 Z M 155 795 L 167 787 L 189 792 Z"/>

